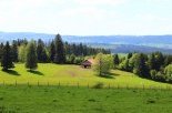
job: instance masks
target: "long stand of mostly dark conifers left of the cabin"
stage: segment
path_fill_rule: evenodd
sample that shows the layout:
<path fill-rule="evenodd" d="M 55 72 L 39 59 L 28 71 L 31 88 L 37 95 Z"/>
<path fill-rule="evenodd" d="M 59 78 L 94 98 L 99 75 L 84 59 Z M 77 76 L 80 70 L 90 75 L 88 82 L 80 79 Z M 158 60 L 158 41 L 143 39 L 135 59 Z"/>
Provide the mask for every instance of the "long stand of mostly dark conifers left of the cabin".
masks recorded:
<path fill-rule="evenodd" d="M 37 63 L 58 63 L 58 64 L 80 64 L 84 56 L 94 55 L 99 52 L 110 53 L 110 50 L 95 49 L 82 43 L 63 42 L 60 34 L 49 43 L 41 39 L 31 40 L 13 40 L 10 44 L 0 44 L 0 61 L 3 71 L 14 68 L 14 63 L 26 63 L 26 68 L 30 70 L 37 69 Z"/>

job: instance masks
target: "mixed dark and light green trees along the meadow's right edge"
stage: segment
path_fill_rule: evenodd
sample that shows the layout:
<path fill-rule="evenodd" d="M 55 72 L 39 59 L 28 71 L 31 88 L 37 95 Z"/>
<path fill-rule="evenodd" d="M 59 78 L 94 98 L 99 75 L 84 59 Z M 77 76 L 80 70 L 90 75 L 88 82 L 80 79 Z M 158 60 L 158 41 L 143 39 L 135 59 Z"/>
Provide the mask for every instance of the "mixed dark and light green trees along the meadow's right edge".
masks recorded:
<path fill-rule="evenodd" d="M 114 54 L 113 63 L 115 69 L 132 72 L 141 78 L 172 83 L 171 54 L 161 52 L 129 53 L 124 58 Z"/>

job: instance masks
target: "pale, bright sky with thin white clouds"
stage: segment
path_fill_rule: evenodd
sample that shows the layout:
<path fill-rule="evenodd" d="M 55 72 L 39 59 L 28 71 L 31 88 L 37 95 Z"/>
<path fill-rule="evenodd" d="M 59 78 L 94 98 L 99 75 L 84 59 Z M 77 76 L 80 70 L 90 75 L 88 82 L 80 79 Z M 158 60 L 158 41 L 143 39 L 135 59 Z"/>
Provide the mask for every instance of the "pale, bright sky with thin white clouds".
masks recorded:
<path fill-rule="evenodd" d="M 172 0 L 0 0 L 0 31 L 172 34 Z"/>

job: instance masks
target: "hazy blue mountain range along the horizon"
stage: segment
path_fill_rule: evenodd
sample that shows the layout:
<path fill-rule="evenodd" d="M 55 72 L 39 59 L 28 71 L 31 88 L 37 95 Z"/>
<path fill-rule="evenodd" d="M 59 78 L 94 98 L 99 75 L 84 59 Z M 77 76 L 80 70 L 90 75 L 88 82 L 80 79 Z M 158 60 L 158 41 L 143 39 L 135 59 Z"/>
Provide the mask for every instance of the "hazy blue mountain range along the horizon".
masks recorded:
<path fill-rule="evenodd" d="M 0 32 L 0 42 L 14 39 L 42 39 L 45 42 L 55 34 L 33 32 Z M 172 53 L 172 35 L 62 35 L 70 43 L 85 43 L 91 47 L 111 49 L 112 52 L 152 52 Z"/>

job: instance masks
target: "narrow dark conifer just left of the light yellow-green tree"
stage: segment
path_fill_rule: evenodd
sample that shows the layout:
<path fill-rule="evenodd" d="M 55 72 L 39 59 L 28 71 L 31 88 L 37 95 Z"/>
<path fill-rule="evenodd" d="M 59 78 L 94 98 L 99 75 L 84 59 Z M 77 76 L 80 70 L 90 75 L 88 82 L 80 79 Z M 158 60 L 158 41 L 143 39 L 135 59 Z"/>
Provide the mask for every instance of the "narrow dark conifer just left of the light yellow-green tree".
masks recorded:
<path fill-rule="evenodd" d="M 12 62 L 18 62 L 18 42 L 16 40 L 12 42 L 11 53 Z"/>

